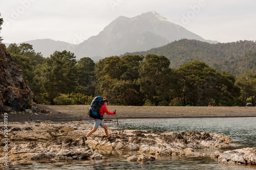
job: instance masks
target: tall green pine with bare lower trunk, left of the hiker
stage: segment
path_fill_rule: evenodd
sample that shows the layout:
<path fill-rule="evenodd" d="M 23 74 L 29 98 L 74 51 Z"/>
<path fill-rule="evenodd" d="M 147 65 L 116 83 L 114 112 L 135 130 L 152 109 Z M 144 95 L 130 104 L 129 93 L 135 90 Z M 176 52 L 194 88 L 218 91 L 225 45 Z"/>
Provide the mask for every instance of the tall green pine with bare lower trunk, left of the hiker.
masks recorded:
<path fill-rule="evenodd" d="M 48 93 L 50 104 L 59 93 L 67 94 L 76 87 L 76 60 L 73 53 L 55 51 L 46 59 L 41 70 L 42 86 Z"/>

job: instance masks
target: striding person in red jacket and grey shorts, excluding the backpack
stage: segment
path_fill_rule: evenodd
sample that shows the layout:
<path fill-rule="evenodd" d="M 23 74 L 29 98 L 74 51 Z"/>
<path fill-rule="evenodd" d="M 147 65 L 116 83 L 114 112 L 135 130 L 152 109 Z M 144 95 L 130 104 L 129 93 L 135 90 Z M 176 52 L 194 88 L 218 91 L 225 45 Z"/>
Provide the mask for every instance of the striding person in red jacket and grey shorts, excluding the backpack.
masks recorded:
<path fill-rule="evenodd" d="M 116 111 L 115 112 L 109 112 L 109 110 L 106 108 L 106 105 L 108 105 L 109 101 L 104 97 L 103 98 L 103 101 L 102 101 L 102 106 L 101 108 L 99 109 L 99 113 L 102 115 L 102 117 L 104 116 L 104 113 L 106 114 L 109 114 L 109 115 L 113 115 L 113 114 L 116 114 Z M 87 138 L 93 134 L 99 127 L 99 125 L 104 128 L 105 130 L 105 133 L 106 133 L 106 137 L 108 137 L 108 139 L 111 139 L 111 136 L 109 134 L 109 131 L 108 131 L 108 127 L 102 122 L 101 119 L 98 119 L 96 118 L 95 119 L 95 124 L 94 124 L 94 127 L 93 129 L 85 136 L 85 140 L 87 140 Z"/>

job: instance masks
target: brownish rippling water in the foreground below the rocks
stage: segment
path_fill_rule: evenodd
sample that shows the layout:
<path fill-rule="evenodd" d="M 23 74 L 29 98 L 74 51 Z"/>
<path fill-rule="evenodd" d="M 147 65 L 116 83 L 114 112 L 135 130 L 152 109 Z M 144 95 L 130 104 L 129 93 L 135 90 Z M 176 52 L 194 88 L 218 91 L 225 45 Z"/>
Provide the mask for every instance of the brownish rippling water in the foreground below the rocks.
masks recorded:
<path fill-rule="evenodd" d="M 10 169 L 234 169 L 255 170 L 250 165 L 218 164 L 210 158 L 174 157 L 157 158 L 156 161 L 139 163 L 127 162 L 123 157 L 105 157 L 102 160 L 86 160 L 69 163 L 33 163 L 32 165 L 16 165 Z"/>

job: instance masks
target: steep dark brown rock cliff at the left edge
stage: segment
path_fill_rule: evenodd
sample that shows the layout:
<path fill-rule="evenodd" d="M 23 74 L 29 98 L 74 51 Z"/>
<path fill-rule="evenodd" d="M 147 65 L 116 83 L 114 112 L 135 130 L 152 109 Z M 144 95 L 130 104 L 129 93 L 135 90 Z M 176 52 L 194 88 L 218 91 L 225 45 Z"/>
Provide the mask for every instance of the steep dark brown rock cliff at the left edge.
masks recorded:
<path fill-rule="evenodd" d="M 25 111 L 30 88 L 10 53 L 0 44 L 0 112 Z"/>

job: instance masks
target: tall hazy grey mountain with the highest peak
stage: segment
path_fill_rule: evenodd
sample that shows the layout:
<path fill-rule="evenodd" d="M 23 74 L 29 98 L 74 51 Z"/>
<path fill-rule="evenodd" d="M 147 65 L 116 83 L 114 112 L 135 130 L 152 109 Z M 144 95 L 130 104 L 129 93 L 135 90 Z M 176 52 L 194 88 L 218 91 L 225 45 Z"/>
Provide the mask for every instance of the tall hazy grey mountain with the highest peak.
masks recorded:
<path fill-rule="evenodd" d="M 78 44 L 74 53 L 78 58 L 108 57 L 149 50 L 183 38 L 217 43 L 205 40 L 151 11 L 132 18 L 119 16 L 98 35 Z"/>

